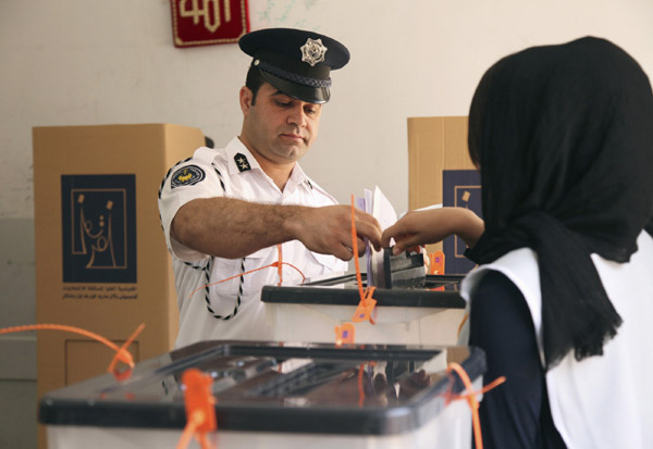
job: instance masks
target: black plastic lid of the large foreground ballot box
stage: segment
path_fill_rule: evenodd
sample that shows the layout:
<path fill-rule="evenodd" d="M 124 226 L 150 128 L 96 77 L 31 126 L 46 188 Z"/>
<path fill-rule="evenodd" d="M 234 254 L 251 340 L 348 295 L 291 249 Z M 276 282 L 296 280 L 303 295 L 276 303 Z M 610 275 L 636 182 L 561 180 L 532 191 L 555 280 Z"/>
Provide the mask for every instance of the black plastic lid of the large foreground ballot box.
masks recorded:
<path fill-rule="evenodd" d="M 467 347 L 204 341 L 138 363 L 127 381 L 106 374 L 47 394 L 39 422 L 184 428 L 180 379 L 196 367 L 214 378 L 222 431 L 399 434 L 464 390 L 445 372 L 452 361 L 472 381 L 485 371 L 484 353 Z"/>

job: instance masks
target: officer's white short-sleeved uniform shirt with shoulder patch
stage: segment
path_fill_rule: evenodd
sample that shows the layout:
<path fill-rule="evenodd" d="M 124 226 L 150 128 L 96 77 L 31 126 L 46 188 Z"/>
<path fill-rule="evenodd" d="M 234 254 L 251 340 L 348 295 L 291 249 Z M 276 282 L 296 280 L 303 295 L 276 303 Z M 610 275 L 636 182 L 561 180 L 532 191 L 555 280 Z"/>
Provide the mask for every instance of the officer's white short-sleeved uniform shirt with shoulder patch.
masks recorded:
<path fill-rule="evenodd" d="M 299 164 L 295 164 L 282 192 L 237 137 L 224 149 L 199 148 L 193 158 L 171 169 L 161 186 L 159 210 L 165 242 L 173 257 L 180 307 L 177 348 L 206 339 L 273 339 L 260 292 L 264 285 L 279 283 L 276 267 L 213 285 L 208 295 L 206 288 L 200 287 L 278 261 L 276 247 L 261 249 L 244 259 L 220 259 L 192 250 L 170 235 L 172 219 L 182 205 L 197 198 L 212 197 L 309 207 L 337 203 L 304 174 Z M 293 264 L 306 277 L 335 275 L 347 270 L 346 262 L 310 252 L 297 240 L 282 245 L 282 257 L 283 262 Z M 283 280 L 284 285 L 296 284 L 301 275 L 284 264 Z M 197 288 L 200 289 L 192 295 Z"/>

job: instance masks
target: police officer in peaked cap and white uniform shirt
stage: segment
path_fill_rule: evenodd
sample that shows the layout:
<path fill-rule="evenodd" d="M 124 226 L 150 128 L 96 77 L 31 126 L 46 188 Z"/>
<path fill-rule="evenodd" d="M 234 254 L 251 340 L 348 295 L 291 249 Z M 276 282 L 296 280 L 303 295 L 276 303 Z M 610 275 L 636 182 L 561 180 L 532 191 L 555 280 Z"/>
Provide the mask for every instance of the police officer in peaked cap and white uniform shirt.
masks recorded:
<path fill-rule="evenodd" d="M 252 57 L 239 92 L 241 135 L 220 150 L 197 149 L 171 169 L 159 195 L 178 296 L 176 347 L 273 338 L 260 291 L 279 282 L 278 270 L 239 275 L 278 261 L 278 244 L 283 261 L 307 277 L 344 272 L 353 258 L 350 207 L 338 205 L 298 164 L 318 135 L 330 72 L 348 62 L 348 50 L 288 28 L 252 32 L 238 43 Z M 357 211 L 356 229 L 358 248 L 369 238 L 380 249 L 375 219 Z M 301 279 L 288 265 L 283 277 Z"/>

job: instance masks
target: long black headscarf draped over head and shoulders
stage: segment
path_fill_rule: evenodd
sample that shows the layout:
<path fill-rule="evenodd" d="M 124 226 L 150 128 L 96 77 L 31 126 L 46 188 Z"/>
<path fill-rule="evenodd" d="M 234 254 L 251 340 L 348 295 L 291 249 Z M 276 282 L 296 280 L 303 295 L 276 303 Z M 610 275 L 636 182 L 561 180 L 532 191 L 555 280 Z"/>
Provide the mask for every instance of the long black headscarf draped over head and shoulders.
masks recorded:
<path fill-rule="evenodd" d="M 599 38 L 512 54 L 477 88 L 469 150 L 485 233 L 468 255 L 489 263 L 532 248 L 546 367 L 571 349 L 577 360 L 602 354 L 621 319 L 590 253 L 626 262 L 641 230 L 653 235 L 649 78 Z"/>

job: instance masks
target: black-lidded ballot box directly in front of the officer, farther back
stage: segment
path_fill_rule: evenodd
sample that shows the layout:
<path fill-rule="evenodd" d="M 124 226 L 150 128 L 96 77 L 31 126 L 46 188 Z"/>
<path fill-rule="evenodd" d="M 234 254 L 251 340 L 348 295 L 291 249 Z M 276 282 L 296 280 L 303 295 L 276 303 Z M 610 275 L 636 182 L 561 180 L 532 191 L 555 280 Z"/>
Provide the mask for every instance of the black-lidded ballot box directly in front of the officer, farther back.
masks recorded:
<path fill-rule="evenodd" d="M 464 275 L 427 275 L 421 287 L 377 288 L 374 324 L 357 323 L 356 342 L 451 346 L 458 342 L 466 301 Z M 361 274 L 362 285 L 366 274 Z M 360 301 L 355 274 L 307 279 L 301 285 L 267 285 L 261 292 L 278 341 L 335 341 L 334 328 Z"/>

